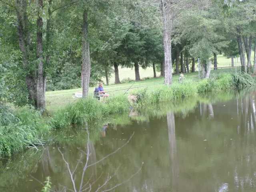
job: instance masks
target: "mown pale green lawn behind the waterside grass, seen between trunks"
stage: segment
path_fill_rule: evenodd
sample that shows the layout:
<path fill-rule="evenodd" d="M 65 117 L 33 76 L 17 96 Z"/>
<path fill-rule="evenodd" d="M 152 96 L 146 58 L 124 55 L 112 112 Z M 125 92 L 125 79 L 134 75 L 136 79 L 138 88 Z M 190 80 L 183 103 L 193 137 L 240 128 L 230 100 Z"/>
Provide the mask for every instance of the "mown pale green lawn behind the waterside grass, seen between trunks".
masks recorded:
<path fill-rule="evenodd" d="M 252 59 L 253 59 L 253 55 L 254 55 L 254 52 L 252 52 Z M 219 55 L 217 58 L 217 62 L 218 62 L 219 70 L 218 71 L 212 70 L 211 74 L 215 73 L 215 72 L 224 72 L 225 70 L 228 70 L 228 71 L 230 70 L 227 68 L 221 69 L 221 67 L 230 66 L 231 59 L 227 59 L 224 56 Z M 253 63 L 253 60 L 252 60 L 252 63 Z M 237 65 L 240 65 L 240 58 L 238 58 Z M 233 70 L 235 70 L 235 68 Z M 160 73 L 158 72 L 157 76 L 159 76 L 159 75 L 160 75 Z M 120 80 L 123 80 L 124 78 L 135 79 L 134 69 L 119 68 L 119 76 L 120 76 Z M 147 68 L 146 70 L 143 70 L 142 68 L 140 68 L 140 78 L 144 78 L 144 77 L 153 77 L 153 68 Z M 178 78 L 179 78 L 179 75 L 174 75 L 173 82 L 178 82 Z M 185 74 L 185 80 L 186 79 L 196 79 L 196 78 L 198 78 L 198 72 Z M 148 89 L 150 90 L 150 89 L 154 89 L 156 86 L 160 86 L 163 83 L 164 83 L 163 77 L 138 81 L 138 82 L 134 83 L 134 85 L 132 86 L 132 89 L 129 90 L 129 93 L 138 89 L 136 87 L 148 86 Z M 126 92 L 126 90 L 132 84 L 133 84 L 133 82 L 115 85 L 114 84 L 114 74 L 113 74 L 112 77 L 110 78 L 110 85 L 104 86 L 104 90 L 109 92 L 110 96 L 112 97 L 112 96 L 115 96 L 118 94 L 124 94 Z M 140 89 L 143 89 L 143 88 L 145 88 L 145 87 L 142 87 Z M 120 89 L 124 89 L 124 90 L 120 90 Z M 120 91 L 115 91 L 115 90 L 120 90 Z M 90 87 L 89 88 L 90 94 L 93 94 L 93 91 L 94 91 L 94 88 Z M 54 112 L 54 111 L 58 110 L 59 108 L 66 106 L 66 104 L 68 102 L 76 102 L 77 99 L 72 98 L 72 96 L 73 96 L 72 94 L 74 94 L 75 92 L 81 93 L 82 88 L 72 89 L 72 90 L 46 92 L 46 108 L 48 109 L 48 111 Z"/>

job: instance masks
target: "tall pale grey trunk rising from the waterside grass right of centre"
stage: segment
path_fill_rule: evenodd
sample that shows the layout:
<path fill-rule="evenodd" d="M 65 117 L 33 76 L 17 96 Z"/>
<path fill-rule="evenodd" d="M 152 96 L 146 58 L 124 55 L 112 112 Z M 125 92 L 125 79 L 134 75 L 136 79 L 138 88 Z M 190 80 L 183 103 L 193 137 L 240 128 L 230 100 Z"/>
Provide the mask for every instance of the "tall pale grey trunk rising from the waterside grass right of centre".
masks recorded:
<path fill-rule="evenodd" d="M 172 84 L 172 20 L 170 18 L 169 5 L 160 0 L 162 10 L 162 21 L 164 24 L 164 80 L 166 85 Z"/>

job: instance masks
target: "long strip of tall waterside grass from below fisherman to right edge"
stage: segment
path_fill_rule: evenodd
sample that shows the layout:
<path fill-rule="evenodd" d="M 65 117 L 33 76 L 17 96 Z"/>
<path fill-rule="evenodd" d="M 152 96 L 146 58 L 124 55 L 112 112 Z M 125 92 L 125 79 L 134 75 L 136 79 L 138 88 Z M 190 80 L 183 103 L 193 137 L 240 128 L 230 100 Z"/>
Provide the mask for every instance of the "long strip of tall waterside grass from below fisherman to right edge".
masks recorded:
<path fill-rule="evenodd" d="M 127 95 L 111 97 L 106 103 L 99 103 L 94 98 L 79 99 L 73 104 L 54 113 L 50 120 L 52 128 L 62 128 L 72 124 L 84 124 L 100 120 L 110 114 L 129 110 L 129 106 L 142 107 L 158 102 L 174 102 L 184 98 L 194 98 L 197 94 L 206 92 L 220 92 L 236 87 L 249 87 L 255 85 L 255 80 L 248 74 L 218 74 L 210 79 L 197 81 L 184 81 L 174 83 L 172 86 L 161 84 L 157 87 L 142 88 L 132 93 L 133 102 L 129 102 Z M 129 104 L 130 103 L 130 104 Z"/>

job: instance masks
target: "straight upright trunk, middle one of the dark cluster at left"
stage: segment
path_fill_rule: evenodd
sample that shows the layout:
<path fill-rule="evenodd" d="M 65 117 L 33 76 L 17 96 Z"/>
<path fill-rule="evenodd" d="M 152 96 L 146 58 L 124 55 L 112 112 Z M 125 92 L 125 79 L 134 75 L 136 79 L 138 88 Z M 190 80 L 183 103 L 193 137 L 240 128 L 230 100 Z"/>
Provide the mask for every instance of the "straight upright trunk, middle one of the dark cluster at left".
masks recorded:
<path fill-rule="evenodd" d="M 38 0 L 39 9 L 43 8 L 43 0 Z M 37 80 L 36 80 L 36 108 L 38 110 L 44 110 L 44 66 L 43 66 L 43 18 L 38 11 L 37 18 L 37 33 L 36 33 L 36 57 L 38 60 L 37 67 Z"/>

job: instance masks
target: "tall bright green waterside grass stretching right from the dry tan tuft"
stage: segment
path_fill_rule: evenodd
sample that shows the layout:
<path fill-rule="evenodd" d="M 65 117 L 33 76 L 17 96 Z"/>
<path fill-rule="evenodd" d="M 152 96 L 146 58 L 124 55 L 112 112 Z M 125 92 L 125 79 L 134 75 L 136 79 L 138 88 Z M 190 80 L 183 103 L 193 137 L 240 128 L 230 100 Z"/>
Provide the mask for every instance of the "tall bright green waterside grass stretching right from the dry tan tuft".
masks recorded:
<path fill-rule="evenodd" d="M 139 90 L 133 94 L 137 96 L 137 102 L 142 105 L 156 102 L 176 101 L 183 98 L 191 98 L 198 93 L 220 92 L 235 87 L 249 87 L 256 81 L 248 74 L 222 73 L 201 81 L 185 81 L 173 83 L 172 86 L 160 86 L 152 91 Z"/>

